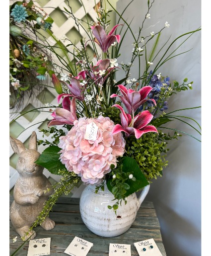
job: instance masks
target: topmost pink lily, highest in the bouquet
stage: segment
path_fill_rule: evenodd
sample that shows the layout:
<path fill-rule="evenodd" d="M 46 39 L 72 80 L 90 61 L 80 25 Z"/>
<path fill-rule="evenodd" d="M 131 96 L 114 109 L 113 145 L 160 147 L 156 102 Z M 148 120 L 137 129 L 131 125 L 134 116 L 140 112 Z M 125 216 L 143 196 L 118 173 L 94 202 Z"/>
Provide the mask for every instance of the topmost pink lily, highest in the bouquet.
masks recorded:
<path fill-rule="evenodd" d="M 116 40 L 118 43 L 120 42 L 120 35 L 114 35 L 114 32 L 119 25 L 122 25 L 122 24 L 117 24 L 116 26 L 114 26 L 112 30 L 108 33 L 108 35 L 100 25 L 91 26 L 92 33 L 98 41 L 98 42 L 96 41 L 94 42 L 96 42 L 100 46 L 101 50 L 104 53 L 107 52 L 108 48 Z"/>

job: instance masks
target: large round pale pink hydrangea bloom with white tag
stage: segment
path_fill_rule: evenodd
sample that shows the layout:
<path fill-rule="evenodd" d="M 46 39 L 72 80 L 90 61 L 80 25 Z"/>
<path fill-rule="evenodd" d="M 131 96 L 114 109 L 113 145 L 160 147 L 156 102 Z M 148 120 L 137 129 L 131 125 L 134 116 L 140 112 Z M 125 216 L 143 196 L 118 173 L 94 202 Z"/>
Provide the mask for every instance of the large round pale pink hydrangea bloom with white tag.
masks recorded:
<path fill-rule="evenodd" d="M 80 117 L 66 136 L 60 137 L 60 160 L 68 171 L 74 171 L 87 184 L 100 184 L 110 166 L 117 166 L 117 158 L 123 156 L 126 141 L 122 133 L 112 134 L 114 122 L 109 117 L 94 119 L 98 127 L 95 141 L 84 139 L 86 126 L 91 118 Z"/>

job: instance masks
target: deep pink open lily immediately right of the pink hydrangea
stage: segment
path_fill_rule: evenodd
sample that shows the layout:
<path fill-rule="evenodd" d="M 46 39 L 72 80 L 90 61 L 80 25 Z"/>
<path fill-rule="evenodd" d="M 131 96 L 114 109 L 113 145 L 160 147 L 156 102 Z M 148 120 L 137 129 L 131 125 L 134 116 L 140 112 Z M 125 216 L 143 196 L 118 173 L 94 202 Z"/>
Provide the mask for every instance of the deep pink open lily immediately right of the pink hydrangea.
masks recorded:
<path fill-rule="evenodd" d="M 115 104 L 112 107 L 118 107 L 122 111 L 120 113 L 122 126 L 120 124 L 116 124 L 112 130 L 112 134 L 125 132 L 127 137 L 135 134 L 135 137 L 139 139 L 144 133 L 157 132 L 155 126 L 147 125 L 153 118 L 153 115 L 150 114 L 148 110 L 142 111 L 141 114 L 136 115 L 132 119 L 131 115 L 125 113 L 124 109 L 120 105 Z"/>

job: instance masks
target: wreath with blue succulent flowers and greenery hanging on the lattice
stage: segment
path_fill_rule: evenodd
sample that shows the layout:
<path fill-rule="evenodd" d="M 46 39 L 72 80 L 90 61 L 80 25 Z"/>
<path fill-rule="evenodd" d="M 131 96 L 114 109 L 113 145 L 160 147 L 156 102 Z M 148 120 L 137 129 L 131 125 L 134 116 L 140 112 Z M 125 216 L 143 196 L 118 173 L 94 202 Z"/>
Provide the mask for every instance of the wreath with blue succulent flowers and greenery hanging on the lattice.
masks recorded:
<path fill-rule="evenodd" d="M 43 47 L 47 44 L 39 31 L 51 28 L 53 19 L 32 0 L 13 2 L 9 18 L 9 104 L 19 109 L 24 94 L 31 95 L 54 73 L 51 52 Z"/>

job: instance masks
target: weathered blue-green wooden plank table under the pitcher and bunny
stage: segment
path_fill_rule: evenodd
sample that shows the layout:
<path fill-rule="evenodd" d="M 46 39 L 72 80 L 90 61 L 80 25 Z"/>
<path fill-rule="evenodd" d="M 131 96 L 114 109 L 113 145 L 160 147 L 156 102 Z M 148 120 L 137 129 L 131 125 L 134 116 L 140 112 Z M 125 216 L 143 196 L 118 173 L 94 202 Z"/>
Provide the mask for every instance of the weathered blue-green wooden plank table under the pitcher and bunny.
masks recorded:
<path fill-rule="evenodd" d="M 54 205 L 53 212 L 50 212 L 49 217 L 56 223 L 54 229 L 45 231 L 38 226 L 34 230 L 37 234 L 36 239 L 51 238 L 51 256 L 67 255 L 64 252 L 75 236 L 93 243 L 93 247 L 87 256 L 108 256 L 110 243 L 130 244 L 132 255 L 139 255 L 134 243 L 150 238 L 154 239 L 162 256 L 166 256 L 162 244 L 160 225 L 152 202 L 143 202 L 131 228 L 126 233 L 114 238 L 97 236 L 86 228 L 80 217 L 79 198 L 60 198 L 58 203 Z M 13 243 L 12 239 L 16 236 L 17 241 Z M 9 244 L 10 256 L 23 244 L 11 223 Z M 29 242 L 27 241 L 16 256 L 27 256 L 28 245 Z"/>

